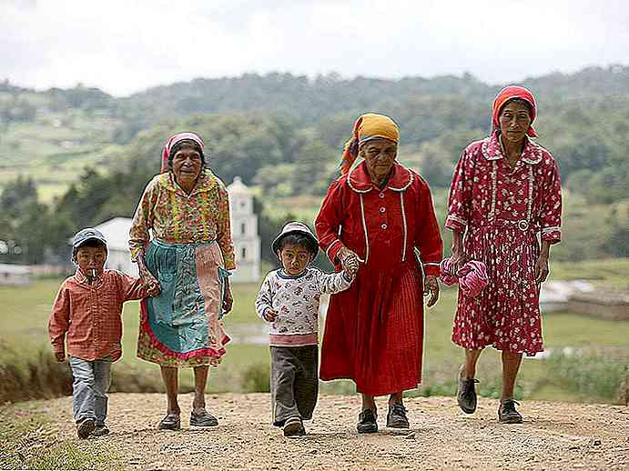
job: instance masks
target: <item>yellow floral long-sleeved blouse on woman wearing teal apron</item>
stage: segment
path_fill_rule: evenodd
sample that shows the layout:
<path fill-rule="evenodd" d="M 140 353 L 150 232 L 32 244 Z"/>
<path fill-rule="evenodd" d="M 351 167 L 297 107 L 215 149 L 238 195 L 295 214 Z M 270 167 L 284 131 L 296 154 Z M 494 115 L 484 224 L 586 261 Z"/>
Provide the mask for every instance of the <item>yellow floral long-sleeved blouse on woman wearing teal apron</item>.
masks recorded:
<path fill-rule="evenodd" d="M 225 268 L 236 268 L 228 191 L 208 169 L 201 172 L 190 195 L 175 182 L 171 172 L 156 175 L 148 183 L 129 231 L 129 248 L 134 260 L 144 253 L 150 240 L 149 229 L 153 237 L 168 244 L 216 241 Z"/>

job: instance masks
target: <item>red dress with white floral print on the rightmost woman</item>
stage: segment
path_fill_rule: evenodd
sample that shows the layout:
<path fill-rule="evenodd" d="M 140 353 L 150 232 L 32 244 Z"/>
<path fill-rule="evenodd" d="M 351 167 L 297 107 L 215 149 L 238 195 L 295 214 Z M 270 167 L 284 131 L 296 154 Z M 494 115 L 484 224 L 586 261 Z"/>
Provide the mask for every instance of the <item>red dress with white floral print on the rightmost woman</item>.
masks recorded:
<path fill-rule="evenodd" d="M 553 156 L 527 139 L 511 167 L 498 134 L 468 145 L 452 179 L 446 227 L 465 232 L 465 254 L 487 266 L 480 296 L 459 291 L 452 341 L 467 349 L 492 345 L 534 355 L 543 350 L 534 267 L 538 234 L 561 239 L 562 193 Z"/>

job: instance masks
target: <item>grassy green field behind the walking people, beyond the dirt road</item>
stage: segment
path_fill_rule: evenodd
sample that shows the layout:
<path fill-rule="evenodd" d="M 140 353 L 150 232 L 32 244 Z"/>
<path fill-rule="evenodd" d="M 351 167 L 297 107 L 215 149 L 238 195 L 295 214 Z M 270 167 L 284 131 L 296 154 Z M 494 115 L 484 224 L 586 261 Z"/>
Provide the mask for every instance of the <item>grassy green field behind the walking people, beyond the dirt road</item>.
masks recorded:
<path fill-rule="evenodd" d="M 626 285 L 629 271 L 629 260 L 604 261 L 600 266 L 593 262 L 582 264 L 554 264 L 553 276 L 583 277 L 595 275 L 596 283 L 604 284 L 607 279 L 614 286 Z M 46 325 L 50 306 L 56 295 L 58 280 L 40 280 L 25 287 L 0 287 L 0 305 L 3 316 L 0 317 L 0 340 L 19 352 L 36 352 L 39 348 L 49 351 Z M 257 293 L 257 285 L 234 286 L 235 305 L 233 312 L 225 318 L 228 332 L 238 337 L 238 333 L 253 330 L 263 335 L 261 321 L 255 316 L 253 304 Z M 456 302 L 456 291 L 442 291 L 437 306 L 427 309 L 425 314 L 425 346 L 424 346 L 424 386 L 420 394 L 452 394 L 454 375 L 462 359 L 462 351 L 451 344 L 451 319 Z M 137 359 L 136 339 L 138 326 L 137 302 L 127 303 L 124 311 L 125 334 L 123 336 L 124 356 L 117 363 L 118 371 L 134 372 L 141 376 L 150 376 L 159 382 L 159 372 L 155 365 Z M 243 330 L 244 329 L 244 330 Z M 543 318 L 545 346 L 552 350 L 560 350 L 565 346 L 596 350 L 612 348 L 614 352 L 629 351 L 626 332 L 629 322 L 614 322 L 594 319 L 588 316 L 571 313 L 553 313 Z M 264 338 L 264 337 L 262 337 Z M 0 344 L 2 345 L 2 344 Z M 0 353 L 0 361 L 2 353 Z M 622 357 L 618 361 L 623 361 Z M 585 367 L 597 367 L 600 364 L 594 358 L 588 360 Z M 231 344 L 224 362 L 210 373 L 208 389 L 213 392 L 243 390 L 243 372 L 253 366 L 256 375 L 264 376 L 268 372 L 269 350 L 263 344 Z M 569 366 L 569 365 L 568 365 Z M 595 400 L 577 386 L 562 386 L 553 383 L 553 367 L 558 367 L 545 360 L 529 359 L 522 366 L 519 394 L 537 399 L 562 400 Z M 566 365 L 563 363 L 562 368 Z M 617 369 L 617 368 L 616 368 Z M 570 371 L 564 376 L 570 376 Z M 500 369 L 498 352 L 488 349 L 483 354 L 479 377 L 482 379 L 483 394 L 495 396 L 500 385 Z M 191 386 L 190 372 L 184 373 L 182 385 Z M 565 382 L 565 381 L 563 381 Z M 327 392 L 353 392 L 349 382 L 324 384 L 322 389 Z M 599 399 L 603 400 L 603 399 Z"/>

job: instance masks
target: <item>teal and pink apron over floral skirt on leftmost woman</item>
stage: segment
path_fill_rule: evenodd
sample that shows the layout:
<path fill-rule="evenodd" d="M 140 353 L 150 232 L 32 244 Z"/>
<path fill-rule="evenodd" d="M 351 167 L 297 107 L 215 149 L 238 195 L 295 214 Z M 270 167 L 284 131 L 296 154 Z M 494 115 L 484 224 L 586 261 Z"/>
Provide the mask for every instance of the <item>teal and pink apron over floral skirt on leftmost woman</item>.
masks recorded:
<path fill-rule="evenodd" d="M 229 274 L 218 244 L 153 240 L 145 260 L 161 292 L 141 303 L 137 356 L 161 366 L 218 365 L 229 341 L 220 320 Z"/>

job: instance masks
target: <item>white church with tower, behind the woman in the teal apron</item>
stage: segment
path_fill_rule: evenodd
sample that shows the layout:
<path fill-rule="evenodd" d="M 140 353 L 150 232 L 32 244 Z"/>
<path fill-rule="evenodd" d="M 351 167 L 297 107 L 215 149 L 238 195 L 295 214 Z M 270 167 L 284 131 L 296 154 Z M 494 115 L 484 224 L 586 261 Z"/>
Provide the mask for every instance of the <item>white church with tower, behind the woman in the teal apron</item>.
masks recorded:
<path fill-rule="evenodd" d="M 253 213 L 253 195 L 238 176 L 228 185 L 228 192 L 231 236 L 238 266 L 229 279 L 233 283 L 256 283 L 260 275 L 260 238 L 258 216 Z M 107 268 L 138 276 L 128 247 L 131 219 L 114 217 L 95 228 L 107 239 Z"/>

